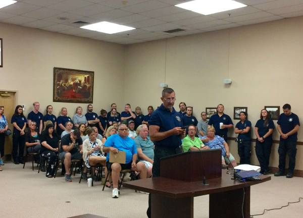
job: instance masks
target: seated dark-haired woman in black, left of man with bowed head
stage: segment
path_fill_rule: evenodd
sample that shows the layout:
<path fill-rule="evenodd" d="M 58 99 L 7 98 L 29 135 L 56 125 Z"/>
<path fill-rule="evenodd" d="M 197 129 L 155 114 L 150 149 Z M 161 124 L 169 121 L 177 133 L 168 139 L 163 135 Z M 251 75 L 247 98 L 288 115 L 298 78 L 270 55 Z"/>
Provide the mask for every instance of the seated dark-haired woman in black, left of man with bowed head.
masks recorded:
<path fill-rule="evenodd" d="M 46 177 L 51 178 L 55 173 L 55 165 L 58 154 L 58 142 L 59 139 L 55 133 L 53 124 L 48 124 L 45 131 L 41 134 L 41 156 L 48 161 L 48 167 L 46 170 Z"/>

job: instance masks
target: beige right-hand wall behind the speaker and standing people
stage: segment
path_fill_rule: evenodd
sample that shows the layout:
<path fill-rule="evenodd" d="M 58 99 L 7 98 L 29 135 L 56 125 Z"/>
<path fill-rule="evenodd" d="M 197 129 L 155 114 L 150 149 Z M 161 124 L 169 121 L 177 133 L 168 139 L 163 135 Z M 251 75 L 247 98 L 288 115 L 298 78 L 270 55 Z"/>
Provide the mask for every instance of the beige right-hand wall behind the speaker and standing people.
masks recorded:
<path fill-rule="evenodd" d="M 247 106 L 248 119 L 255 125 L 265 105 L 290 103 L 303 122 L 302 22 L 303 17 L 297 17 L 128 45 L 124 100 L 140 104 L 146 113 L 149 104 L 161 103 L 159 83 L 166 82 L 176 91 L 176 107 L 185 101 L 194 106 L 197 118 L 205 107 L 223 103 L 231 117 L 234 106 Z M 225 78 L 232 79 L 230 86 L 223 84 Z M 299 141 L 303 141 L 302 132 Z M 278 139 L 277 131 L 274 138 Z M 234 142 L 231 151 L 237 156 Z M 272 153 L 271 166 L 277 167 L 277 145 Z M 303 170 L 302 156 L 303 146 L 298 145 L 296 169 Z M 258 163 L 255 154 L 252 162 Z"/>

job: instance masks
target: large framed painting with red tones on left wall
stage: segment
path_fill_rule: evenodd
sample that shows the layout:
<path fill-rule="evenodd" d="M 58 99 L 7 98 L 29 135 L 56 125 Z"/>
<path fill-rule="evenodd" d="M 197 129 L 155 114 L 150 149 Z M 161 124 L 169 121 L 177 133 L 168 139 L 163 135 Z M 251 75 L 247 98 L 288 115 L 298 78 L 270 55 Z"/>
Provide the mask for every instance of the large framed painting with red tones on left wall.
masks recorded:
<path fill-rule="evenodd" d="M 92 103 L 93 71 L 54 68 L 53 101 Z"/>

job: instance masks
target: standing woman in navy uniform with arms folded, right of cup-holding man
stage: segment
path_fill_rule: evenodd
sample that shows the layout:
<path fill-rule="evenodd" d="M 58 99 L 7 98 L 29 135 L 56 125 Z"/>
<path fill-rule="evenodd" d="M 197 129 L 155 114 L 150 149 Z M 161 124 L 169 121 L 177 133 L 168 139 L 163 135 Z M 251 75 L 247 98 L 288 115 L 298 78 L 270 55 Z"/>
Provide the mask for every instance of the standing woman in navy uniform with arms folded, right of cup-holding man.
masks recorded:
<path fill-rule="evenodd" d="M 247 113 L 240 112 L 240 121 L 236 124 L 235 134 L 238 134 L 238 154 L 240 156 L 240 164 L 250 164 L 250 128 L 251 122 L 248 121 Z"/>

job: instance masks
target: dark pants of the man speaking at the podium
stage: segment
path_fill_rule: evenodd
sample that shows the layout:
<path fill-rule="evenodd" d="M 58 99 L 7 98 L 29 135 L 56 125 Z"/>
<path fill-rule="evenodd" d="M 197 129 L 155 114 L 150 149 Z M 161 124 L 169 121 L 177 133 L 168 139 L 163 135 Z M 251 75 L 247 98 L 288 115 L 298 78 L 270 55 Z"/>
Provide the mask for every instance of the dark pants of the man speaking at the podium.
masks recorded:
<path fill-rule="evenodd" d="M 180 147 L 170 148 L 170 147 L 158 147 L 155 146 L 154 150 L 154 163 L 153 163 L 153 177 L 160 176 L 160 158 L 182 153 L 182 149 Z M 147 216 L 151 217 L 151 195 L 148 195 L 148 208 L 146 211 Z"/>

